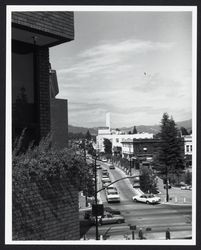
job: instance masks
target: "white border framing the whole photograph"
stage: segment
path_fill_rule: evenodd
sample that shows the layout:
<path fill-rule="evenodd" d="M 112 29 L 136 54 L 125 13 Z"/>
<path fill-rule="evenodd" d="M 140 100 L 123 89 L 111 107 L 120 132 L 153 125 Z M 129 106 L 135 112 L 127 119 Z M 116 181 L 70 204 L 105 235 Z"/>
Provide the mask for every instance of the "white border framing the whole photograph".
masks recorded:
<path fill-rule="evenodd" d="M 118 241 L 118 245 L 196 245 L 196 156 L 197 156 L 197 6 L 73 6 L 7 5 L 6 6 L 6 150 L 5 150 L 5 244 L 7 245 L 116 245 L 117 241 L 16 241 L 12 240 L 12 83 L 11 83 L 11 15 L 15 11 L 143 11 L 192 12 L 192 239 Z"/>

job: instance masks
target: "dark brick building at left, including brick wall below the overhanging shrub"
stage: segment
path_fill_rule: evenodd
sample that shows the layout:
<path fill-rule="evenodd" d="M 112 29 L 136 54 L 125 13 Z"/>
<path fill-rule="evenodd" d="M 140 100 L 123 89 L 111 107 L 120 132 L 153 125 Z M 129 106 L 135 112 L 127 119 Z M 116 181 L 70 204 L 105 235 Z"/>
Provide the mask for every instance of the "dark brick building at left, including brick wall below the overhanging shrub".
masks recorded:
<path fill-rule="evenodd" d="M 14 141 L 26 129 L 25 148 L 31 141 L 38 143 L 50 131 L 57 147 L 67 146 L 67 100 L 56 99 L 59 88 L 56 71 L 50 67 L 49 48 L 73 39 L 72 12 L 12 13 L 12 139 Z M 15 239 L 41 240 L 41 230 L 45 230 L 43 240 L 79 239 L 78 190 L 67 187 L 66 180 L 63 184 L 61 181 L 54 183 L 55 190 L 48 190 L 48 185 L 41 188 L 40 183 L 27 185 L 20 181 L 18 185 L 29 191 L 26 199 L 30 199 L 38 214 L 32 219 L 26 213 L 22 217 L 19 207 L 12 207 Z M 63 195 L 61 192 L 57 195 L 59 187 L 65 191 Z M 44 195 L 52 192 L 51 199 L 39 195 L 42 191 Z M 70 199 L 72 204 L 69 204 Z M 23 200 L 15 201 L 23 207 Z M 26 216 L 30 231 L 22 226 Z M 42 218 L 41 228 L 33 230 L 32 226 Z"/>

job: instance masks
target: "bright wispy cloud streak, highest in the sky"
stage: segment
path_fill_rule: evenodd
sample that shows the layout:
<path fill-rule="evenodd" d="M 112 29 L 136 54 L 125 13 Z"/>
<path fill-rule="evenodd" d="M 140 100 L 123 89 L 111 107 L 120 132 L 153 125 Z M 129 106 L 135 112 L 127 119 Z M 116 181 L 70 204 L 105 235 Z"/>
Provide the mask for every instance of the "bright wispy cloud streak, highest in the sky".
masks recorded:
<path fill-rule="evenodd" d="M 169 50 L 174 46 L 173 43 L 160 43 L 141 40 L 125 40 L 116 42 L 105 42 L 86 49 L 78 54 L 77 58 L 72 58 L 71 63 L 63 69 L 59 69 L 59 74 L 77 74 L 77 77 L 87 77 L 90 74 L 101 72 L 102 70 L 114 70 L 121 66 L 132 56 L 146 54 L 153 51 Z M 75 61 L 75 63 L 73 63 Z M 132 64 L 127 65 L 132 67 Z"/>

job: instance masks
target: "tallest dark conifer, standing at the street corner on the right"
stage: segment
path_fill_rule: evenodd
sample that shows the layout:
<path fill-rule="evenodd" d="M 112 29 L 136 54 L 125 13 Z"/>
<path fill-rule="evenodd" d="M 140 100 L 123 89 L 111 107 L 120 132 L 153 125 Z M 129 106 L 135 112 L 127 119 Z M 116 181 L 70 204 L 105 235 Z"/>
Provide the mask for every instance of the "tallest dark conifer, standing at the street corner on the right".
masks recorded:
<path fill-rule="evenodd" d="M 166 200 L 169 201 L 168 182 L 170 173 L 180 172 L 184 168 L 184 162 L 181 150 L 181 137 L 173 118 L 169 118 L 167 113 L 163 114 L 161 120 L 161 145 L 158 154 L 160 165 L 158 170 L 164 176 L 166 183 Z"/>

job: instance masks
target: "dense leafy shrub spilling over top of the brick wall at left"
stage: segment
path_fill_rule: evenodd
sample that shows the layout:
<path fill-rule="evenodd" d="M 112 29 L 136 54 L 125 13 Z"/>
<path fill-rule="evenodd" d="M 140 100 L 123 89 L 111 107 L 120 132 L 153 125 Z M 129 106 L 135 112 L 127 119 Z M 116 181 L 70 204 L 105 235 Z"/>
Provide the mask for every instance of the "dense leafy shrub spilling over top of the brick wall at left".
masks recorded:
<path fill-rule="evenodd" d="M 13 179 L 16 181 L 65 178 L 81 190 L 87 168 L 83 158 L 73 150 L 53 149 L 50 137 L 41 140 L 38 146 L 30 146 L 25 153 L 20 154 L 17 148 L 13 150 Z"/>

